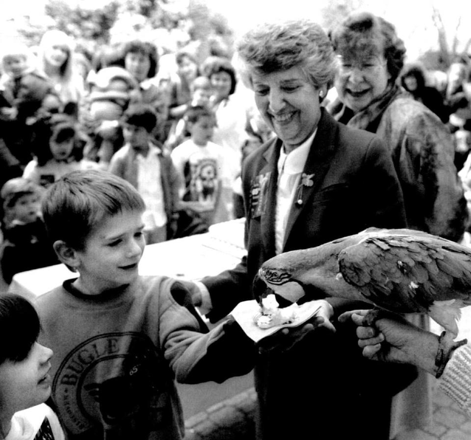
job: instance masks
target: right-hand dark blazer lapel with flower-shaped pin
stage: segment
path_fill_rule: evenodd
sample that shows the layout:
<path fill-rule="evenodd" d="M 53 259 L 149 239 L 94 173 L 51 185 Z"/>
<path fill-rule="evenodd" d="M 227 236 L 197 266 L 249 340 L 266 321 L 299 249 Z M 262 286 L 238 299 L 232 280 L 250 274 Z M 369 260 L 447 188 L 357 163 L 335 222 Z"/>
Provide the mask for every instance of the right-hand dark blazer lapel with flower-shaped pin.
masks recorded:
<path fill-rule="evenodd" d="M 317 132 L 306 159 L 303 175 L 295 192 L 291 210 L 289 211 L 283 248 L 285 248 L 288 242 L 289 235 L 299 214 L 308 206 L 314 197 L 314 193 L 318 191 L 319 186 L 324 180 L 336 150 L 334 138 L 337 132 L 337 123 L 324 109 L 321 110 L 322 116 L 317 125 Z"/>

